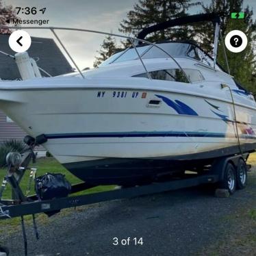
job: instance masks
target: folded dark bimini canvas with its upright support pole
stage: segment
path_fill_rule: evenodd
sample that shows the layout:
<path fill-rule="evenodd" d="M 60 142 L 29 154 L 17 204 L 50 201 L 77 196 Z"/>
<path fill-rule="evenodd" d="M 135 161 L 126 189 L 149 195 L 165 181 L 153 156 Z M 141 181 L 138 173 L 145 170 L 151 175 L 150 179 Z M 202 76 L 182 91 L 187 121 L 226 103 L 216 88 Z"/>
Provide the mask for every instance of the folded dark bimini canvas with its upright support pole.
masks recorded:
<path fill-rule="evenodd" d="M 170 21 L 164 21 L 162 23 L 155 24 L 151 27 L 147 27 L 143 29 L 138 34 L 139 40 L 144 40 L 144 38 L 155 31 L 164 30 L 169 27 L 175 27 L 178 25 L 186 25 L 191 23 L 198 23 L 202 21 L 212 21 L 215 25 L 215 33 L 214 33 L 214 68 L 216 66 L 217 59 L 217 51 L 218 51 L 218 35 L 220 33 L 220 17 L 218 14 L 210 13 L 210 14 L 196 14 L 190 16 L 184 16 L 181 18 L 175 18 Z"/>

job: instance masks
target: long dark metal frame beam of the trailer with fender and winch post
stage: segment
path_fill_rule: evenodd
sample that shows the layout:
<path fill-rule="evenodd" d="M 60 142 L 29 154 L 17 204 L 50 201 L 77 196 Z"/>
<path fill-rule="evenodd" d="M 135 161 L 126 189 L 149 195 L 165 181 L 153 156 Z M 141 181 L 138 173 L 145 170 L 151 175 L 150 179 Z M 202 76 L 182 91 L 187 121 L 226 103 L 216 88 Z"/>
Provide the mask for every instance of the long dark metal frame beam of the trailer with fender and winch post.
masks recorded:
<path fill-rule="evenodd" d="M 14 177 L 14 174 L 8 177 L 8 181 L 12 185 L 14 190 L 14 199 L 0 200 L 0 219 L 14 218 L 18 216 L 25 216 L 39 213 L 51 213 L 59 211 L 60 209 L 78 207 L 81 205 L 89 205 L 93 203 L 99 203 L 103 201 L 112 201 L 116 199 L 129 199 L 136 196 L 144 196 L 148 194 L 156 194 L 160 192 L 166 192 L 170 190 L 179 190 L 181 188 L 190 188 L 206 183 L 218 183 L 225 179 L 225 166 L 231 162 L 234 166 L 237 166 L 239 159 L 245 159 L 248 154 L 245 155 L 233 155 L 230 157 L 220 157 L 216 159 L 211 168 L 206 174 L 196 175 L 185 174 L 183 177 L 176 177 L 169 181 L 155 182 L 149 185 L 134 186 L 131 188 L 120 188 L 118 190 L 110 190 L 106 192 L 97 192 L 92 194 L 84 194 L 80 196 L 68 196 L 59 199 L 50 199 L 42 201 L 38 199 L 38 196 L 24 196 L 21 188 L 19 187 L 18 180 Z M 25 169 L 21 173 L 23 176 Z M 88 185 L 86 182 L 77 183 L 72 185 L 71 194 L 93 188 L 94 185 Z"/>

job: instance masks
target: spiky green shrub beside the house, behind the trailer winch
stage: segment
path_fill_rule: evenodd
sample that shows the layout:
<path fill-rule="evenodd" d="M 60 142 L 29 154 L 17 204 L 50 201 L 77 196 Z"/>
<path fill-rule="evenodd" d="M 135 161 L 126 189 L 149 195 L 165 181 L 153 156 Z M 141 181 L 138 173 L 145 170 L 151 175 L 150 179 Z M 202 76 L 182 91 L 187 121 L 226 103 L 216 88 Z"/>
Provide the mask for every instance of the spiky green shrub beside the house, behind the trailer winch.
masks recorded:
<path fill-rule="evenodd" d="M 0 144 L 0 167 L 5 166 L 6 155 L 9 152 L 23 153 L 27 145 L 20 140 L 6 140 Z"/>

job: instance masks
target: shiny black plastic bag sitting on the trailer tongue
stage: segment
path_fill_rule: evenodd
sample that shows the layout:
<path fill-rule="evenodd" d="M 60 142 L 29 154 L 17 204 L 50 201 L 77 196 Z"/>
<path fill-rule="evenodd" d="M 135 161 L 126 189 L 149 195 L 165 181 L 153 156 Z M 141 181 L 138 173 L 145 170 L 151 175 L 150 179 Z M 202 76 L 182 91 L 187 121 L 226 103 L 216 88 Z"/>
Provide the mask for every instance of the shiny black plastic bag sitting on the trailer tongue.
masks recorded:
<path fill-rule="evenodd" d="M 35 190 L 42 200 L 57 199 L 68 196 L 71 192 L 71 183 L 61 173 L 47 173 L 36 178 Z"/>

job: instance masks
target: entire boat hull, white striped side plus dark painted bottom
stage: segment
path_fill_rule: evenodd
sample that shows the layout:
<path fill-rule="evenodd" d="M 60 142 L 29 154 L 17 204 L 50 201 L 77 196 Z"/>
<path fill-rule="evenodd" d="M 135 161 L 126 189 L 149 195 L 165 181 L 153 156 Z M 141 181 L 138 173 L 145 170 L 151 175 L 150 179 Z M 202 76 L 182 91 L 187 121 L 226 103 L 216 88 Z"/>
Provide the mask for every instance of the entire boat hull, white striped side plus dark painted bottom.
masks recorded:
<path fill-rule="evenodd" d="M 29 135 L 44 136 L 45 149 L 94 185 L 141 183 L 187 168 L 181 163 L 240 153 L 236 128 L 242 151 L 256 148 L 252 106 L 235 106 L 236 127 L 230 94 L 210 97 L 208 90 L 192 94 L 191 85 L 182 86 L 0 88 L 0 107 Z"/>

